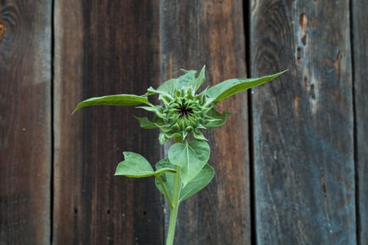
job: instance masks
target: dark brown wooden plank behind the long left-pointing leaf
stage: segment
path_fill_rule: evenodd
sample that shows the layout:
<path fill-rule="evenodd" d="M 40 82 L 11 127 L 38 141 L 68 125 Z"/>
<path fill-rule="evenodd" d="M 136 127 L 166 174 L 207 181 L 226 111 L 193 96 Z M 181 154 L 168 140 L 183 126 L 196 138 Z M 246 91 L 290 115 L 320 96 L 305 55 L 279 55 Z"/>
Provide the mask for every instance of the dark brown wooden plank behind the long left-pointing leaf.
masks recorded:
<path fill-rule="evenodd" d="M 163 244 L 153 179 L 115 177 L 123 151 L 160 158 L 138 109 L 86 108 L 88 97 L 157 86 L 158 1 L 55 1 L 54 244 Z"/>

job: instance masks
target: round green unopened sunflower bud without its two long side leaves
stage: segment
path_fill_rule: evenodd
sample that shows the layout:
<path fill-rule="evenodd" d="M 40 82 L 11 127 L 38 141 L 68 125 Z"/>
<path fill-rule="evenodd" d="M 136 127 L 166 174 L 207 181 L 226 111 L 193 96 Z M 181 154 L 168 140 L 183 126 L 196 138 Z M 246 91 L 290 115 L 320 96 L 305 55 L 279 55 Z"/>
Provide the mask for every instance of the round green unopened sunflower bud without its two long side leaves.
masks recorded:
<path fill-rule="evenodd" d="M 148 118 L 137 118 L 142 127 L 161 129 L 158 137 L 161 144 L 168 139 L 184 141 L 190 135 L 195 139 L 203 139 L 201 130 L 221 125 L 226 120 L 227 113 L 220 114 L 214 109 L 213 99 L 207 97 L 205 91 L 196 94 L 196 90 L 204 80 L 204 70 L 198 78 L 196 71 L 184 71 L 184 75 L 163 83 L 157 90 L 152 87 L 148 95 L 159 94 L 161 106 L 140 106 L 147 111 L 153 111 L 156 116 L 153 120 Z M 148 127 L 147 127 L 148 126 Z"/>

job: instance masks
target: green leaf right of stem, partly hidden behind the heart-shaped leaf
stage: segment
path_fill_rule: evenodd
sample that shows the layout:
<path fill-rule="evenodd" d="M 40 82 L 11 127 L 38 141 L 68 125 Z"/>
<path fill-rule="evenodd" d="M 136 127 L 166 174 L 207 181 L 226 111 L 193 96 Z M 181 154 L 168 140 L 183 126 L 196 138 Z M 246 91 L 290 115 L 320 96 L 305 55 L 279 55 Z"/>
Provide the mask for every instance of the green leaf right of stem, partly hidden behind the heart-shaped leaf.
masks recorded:
<path fill-rule="evenodd" d="M 180 191 L 179 202 L 183 202 L 192 195 L 198 193 L 200 190 L 205 188 L 214 176 L 214 169 L 206 164 L 203 169 L 200 170 L 199 174 L 196 175 L 184 188 Z"/>

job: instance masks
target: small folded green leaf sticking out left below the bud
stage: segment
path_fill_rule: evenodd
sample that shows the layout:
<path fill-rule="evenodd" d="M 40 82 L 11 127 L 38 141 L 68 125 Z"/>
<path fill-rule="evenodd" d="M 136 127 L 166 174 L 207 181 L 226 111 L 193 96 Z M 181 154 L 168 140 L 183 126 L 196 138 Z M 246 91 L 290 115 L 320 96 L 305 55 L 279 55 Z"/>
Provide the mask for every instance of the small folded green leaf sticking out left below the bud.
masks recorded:
<path fill-rule="evenodd" d="M 143 178 L 154 175 L 149 162 L 142 155 L 125 151 L 123 162 L 118 164 L 115 175 L 123 175 L 130 178 Z"/>

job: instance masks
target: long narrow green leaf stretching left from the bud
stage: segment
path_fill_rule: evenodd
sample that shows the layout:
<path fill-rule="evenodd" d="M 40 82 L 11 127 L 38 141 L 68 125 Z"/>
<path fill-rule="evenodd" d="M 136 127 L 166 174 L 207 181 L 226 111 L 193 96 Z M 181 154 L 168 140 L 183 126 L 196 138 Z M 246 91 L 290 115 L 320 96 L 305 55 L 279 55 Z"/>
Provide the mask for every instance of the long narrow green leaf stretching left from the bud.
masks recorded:
<path fill-rule="evenodd" d="M 72 112 L 75 113 L 82 107 L 86 106 L 137 106 L 139 104 L 150 104 L 145 95 L 135 95 L 135 94 L 115 94 L 107 95 L 102 97 L 93 97 L 80 102 L 76 109 Z"/>

